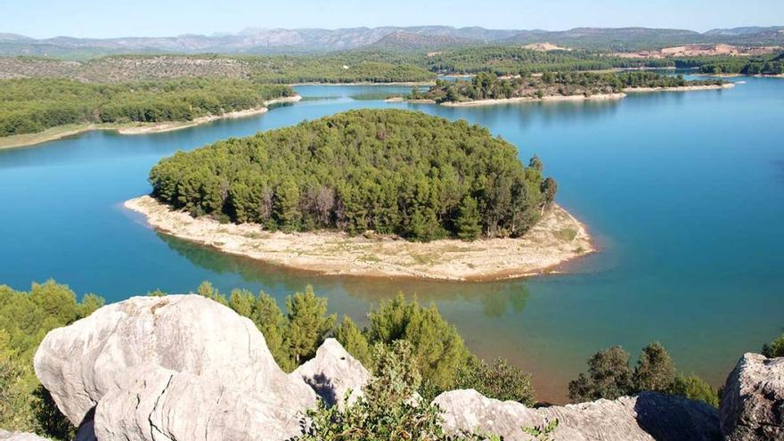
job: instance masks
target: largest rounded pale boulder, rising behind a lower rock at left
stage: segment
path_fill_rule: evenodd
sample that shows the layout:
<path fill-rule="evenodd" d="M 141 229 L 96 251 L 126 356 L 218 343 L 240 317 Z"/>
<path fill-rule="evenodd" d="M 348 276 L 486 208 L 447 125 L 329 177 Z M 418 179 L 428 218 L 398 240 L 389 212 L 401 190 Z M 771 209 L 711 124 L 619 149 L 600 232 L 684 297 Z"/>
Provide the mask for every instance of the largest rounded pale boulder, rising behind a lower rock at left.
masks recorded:
<path fill-rule="evenodd" d="M 129 368 L 159 366 L 264 393 L 304 409 L 313 389 L 282 372 L 264 336 L 248 319 L 195 295 L 135 297 L 103 306 L 49 332 L 38 347 L 38 379 L 74 425 Z"/>

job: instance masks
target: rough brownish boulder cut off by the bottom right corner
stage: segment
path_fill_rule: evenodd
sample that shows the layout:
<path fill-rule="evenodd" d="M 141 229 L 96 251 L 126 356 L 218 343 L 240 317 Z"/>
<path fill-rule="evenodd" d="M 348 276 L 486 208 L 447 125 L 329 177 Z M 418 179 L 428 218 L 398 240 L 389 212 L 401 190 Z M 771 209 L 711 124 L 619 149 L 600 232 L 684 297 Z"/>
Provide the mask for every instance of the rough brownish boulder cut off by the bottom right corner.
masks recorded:
<path fill-rule="evenodd" d="M 730 441 L 784 439 L 784 357 L 743 355 L 724 386 L 721 419 Z"/>

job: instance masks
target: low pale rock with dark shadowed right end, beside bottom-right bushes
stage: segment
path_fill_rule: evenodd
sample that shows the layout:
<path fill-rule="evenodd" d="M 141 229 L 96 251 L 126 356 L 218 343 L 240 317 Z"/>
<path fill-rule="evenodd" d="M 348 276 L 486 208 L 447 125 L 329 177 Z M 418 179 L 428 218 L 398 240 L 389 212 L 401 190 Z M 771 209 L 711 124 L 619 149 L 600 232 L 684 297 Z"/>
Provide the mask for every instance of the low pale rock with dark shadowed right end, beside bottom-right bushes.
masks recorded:
<path fill-rule="evenodd" d="M 555 440 L 717 440 L 721 439 L 716 410 L 677 396 L 642 393 L 617 400 L 531 409 L 502 402 L 477 391 L 453 390 L 433 401 L 444 410 L 448 432 L 476 430 L 501 435 L 507 441 L 535 439 L 522 428 L 543 426 L 557 419 Z"/>

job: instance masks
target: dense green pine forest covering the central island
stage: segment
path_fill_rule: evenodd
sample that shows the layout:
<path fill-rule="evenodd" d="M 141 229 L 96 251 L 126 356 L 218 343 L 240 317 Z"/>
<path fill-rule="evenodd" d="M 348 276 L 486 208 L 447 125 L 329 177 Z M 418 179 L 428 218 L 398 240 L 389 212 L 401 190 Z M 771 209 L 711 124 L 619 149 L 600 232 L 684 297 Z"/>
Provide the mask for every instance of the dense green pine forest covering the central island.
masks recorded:
<path fill-rule="evenodd" d="M 194 216 L 415 241 L 519 236 L 556 188 L 541 161 L 524 167 L 486 128 L 405 110 L 351 110 L 177 152 L 150 182 Z"/>

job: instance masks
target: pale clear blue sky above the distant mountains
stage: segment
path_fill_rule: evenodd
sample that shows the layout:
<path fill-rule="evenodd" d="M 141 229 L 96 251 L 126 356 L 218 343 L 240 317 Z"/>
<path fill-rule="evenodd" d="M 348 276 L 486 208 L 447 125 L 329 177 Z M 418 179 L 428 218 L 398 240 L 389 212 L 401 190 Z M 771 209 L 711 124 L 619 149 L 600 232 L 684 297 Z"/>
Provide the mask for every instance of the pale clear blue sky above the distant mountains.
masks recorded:
<path fill-rule="evenodd" d="M 784 0 L 0 0 L 0 33 L 37 38 L 417 25 L 697 31 L 784 26 Z"/>

